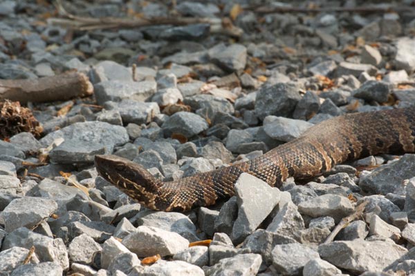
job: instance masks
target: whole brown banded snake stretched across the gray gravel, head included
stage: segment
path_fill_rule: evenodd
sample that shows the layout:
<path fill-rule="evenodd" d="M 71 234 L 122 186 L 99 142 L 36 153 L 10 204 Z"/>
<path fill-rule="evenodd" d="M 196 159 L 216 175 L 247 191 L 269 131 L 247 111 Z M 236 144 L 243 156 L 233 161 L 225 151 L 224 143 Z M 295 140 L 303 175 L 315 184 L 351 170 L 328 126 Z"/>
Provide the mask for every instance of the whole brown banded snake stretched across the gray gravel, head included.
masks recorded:
<path fill-rule="evenodd" d="M 115 155 L 96 155 L 95 166 L 104 179 L 143 206 L 184 212 L 234 195 L 242 172 L 278 187 L 288 177 L 321 175 L 347 160 L 414 152 L 414 143 L 415 108 L 400 108 L 334 117 L 261 157 L 176 181 L 160 181 L 142 166 Z"/>

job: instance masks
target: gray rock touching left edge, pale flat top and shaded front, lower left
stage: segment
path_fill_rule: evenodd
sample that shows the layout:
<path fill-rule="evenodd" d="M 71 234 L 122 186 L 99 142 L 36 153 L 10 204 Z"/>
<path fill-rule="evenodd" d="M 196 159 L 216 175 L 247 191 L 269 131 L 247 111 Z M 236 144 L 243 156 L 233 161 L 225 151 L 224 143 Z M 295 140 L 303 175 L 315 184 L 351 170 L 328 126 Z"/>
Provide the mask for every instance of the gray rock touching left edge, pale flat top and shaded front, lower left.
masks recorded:
<path fill-rule="evenodd" d="M 34 228 L 47 219 L 57 209 L 57 204 L 51 199 L 24 197 L 15 199 L 3 210 L 5 230 L 12 232 L 20 227 Z"/>

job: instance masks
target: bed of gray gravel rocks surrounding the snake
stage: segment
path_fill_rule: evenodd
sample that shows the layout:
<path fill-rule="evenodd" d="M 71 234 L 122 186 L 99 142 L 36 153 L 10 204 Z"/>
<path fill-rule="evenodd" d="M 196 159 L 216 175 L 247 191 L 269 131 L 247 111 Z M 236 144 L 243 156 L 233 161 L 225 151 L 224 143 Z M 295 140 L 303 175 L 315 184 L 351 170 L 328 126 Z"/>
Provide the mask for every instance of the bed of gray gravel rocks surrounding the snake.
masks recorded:
<path fill-rule="evenodd" d="M 331 117 L 411 106 L 413 0 L 63 6 L 78 23 L 209 20 L 73 30 L 57 26 L 50 1 L 0 1 L 0 79 L 77 70 L 94 89 L 27 103 L 42 136 L 0 140 L 1 276 L 415 273 L 415 155 L 370 156 L 280 189 L 243 174 L 235 197 L 185 214 L 140 206 L 93 166 L 112 153 L 178 179 L 258 157 Z"/>

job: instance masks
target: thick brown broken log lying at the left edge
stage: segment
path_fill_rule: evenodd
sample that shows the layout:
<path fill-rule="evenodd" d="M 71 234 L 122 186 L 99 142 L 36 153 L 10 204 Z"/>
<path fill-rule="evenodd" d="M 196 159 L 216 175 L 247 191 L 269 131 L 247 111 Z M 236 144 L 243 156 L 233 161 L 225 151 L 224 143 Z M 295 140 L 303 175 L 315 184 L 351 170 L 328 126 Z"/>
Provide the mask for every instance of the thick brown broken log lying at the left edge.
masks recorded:
<path fill-rule="evenodd" d="M 92 93 L 92 83 L 80 72 L 68 72 L 40 79 L 0 79 L 0 101 L 66 101 L 73 97 L 86 97 Z"/>

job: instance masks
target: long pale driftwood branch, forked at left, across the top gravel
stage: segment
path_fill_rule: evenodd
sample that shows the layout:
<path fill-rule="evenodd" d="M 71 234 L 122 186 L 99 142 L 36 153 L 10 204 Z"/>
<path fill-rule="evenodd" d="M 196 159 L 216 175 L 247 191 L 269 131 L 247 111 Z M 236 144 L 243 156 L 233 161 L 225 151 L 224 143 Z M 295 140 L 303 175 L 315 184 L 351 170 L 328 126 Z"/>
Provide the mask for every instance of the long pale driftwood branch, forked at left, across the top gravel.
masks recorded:
<path fill-rule="evenodd" d="M 230 37 L 240 37 L 243 33 L 241 28 L 237 28 L 229 19 L 217 18 L 196 18 L 196 17 L 154 17 L 154 18 L 133 18 L 124 19 L 118 17 L 78 17 L 65 10 L 61 1 L 56 1 L 55 6 L 59 14 L 64 18 L 50 18 L 50 25 L 71 28 L 73 30 L 98 30 L 111 28 L 140 28 L 145 26 L 174 25 L 184 26 L 196 23 L 210 24 L 210 32 L 228 35 Z"/>

